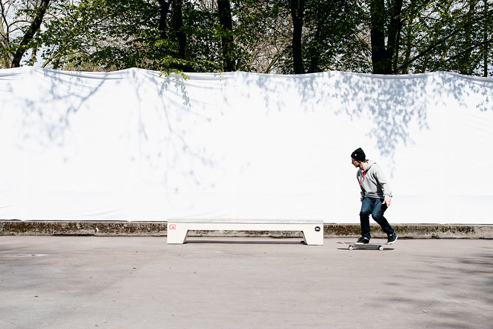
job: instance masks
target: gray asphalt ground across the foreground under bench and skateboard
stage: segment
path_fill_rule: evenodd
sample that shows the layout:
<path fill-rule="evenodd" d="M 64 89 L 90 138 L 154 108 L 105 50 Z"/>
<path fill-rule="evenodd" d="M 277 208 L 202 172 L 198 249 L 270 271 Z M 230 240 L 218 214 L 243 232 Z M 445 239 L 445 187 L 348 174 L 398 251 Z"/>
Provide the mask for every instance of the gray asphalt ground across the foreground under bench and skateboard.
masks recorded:
<path fill-rule="evenodd" d="M 493 328 L 493 240 L 338 240 L 0 236 L 0 328 Z"/>

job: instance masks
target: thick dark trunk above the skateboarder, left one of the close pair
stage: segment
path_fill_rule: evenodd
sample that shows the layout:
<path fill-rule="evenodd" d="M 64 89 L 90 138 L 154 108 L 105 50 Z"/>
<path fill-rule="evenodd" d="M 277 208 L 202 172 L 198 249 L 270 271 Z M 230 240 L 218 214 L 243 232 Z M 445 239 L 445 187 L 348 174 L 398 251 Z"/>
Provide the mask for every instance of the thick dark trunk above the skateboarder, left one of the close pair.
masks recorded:
<path fill-rule="evenodd" d="M 391 57 L 385 48 L 385 4 L 384 0 L 370 2 L 371 61 L 374 74 L 390 74 Z"/>

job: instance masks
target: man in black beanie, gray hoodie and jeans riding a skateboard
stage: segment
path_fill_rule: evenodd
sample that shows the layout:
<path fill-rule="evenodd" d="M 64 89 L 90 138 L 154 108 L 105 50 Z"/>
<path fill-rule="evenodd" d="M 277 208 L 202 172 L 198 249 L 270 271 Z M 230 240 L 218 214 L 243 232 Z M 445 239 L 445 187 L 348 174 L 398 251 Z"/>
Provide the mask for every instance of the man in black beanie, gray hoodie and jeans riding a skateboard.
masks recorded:
<path fill-rule="evenodd" d="M 366 159 L 361 147 L 351 153 L 351 163 L 359 168 L 356 178 L 361 187 L 361 212 L 359 213 L 361 238 L 356 243 L 370 242 L 370 214 L 387 233 L 387 244 L 394 243 L 397 240 L 397 234 L 384 217 L 385 211 L 390 206 L 392 192 L 390 192 L 382 169 L 375 162 Z"/>

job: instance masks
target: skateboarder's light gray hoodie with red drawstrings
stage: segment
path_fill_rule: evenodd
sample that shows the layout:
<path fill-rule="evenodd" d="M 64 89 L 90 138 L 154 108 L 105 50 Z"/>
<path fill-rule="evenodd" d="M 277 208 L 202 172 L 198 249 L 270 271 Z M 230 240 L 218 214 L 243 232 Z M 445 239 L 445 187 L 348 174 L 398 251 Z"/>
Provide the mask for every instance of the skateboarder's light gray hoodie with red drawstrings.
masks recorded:
<path fill-rule="evenodd" d="M 361 200 L 367 196 L 376 199 L 392 199 L 387 179 L 376 162 L 368 160 L 368 167 L 365 171 L 358 169 L 356 178 L 361 187 Z"/>

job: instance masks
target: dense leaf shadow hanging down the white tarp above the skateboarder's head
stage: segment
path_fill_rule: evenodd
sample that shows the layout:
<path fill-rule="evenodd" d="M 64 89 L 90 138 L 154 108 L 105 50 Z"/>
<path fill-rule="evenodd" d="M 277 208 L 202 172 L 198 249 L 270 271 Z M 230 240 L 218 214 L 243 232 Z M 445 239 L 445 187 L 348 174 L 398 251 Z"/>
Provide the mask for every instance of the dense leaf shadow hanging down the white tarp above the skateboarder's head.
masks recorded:
<path fill-rule="evenodd" d="M 426 76 L 394 78 L 344 73 L 341 87 L 338 97 L 343 109 L 336 113 L 369 120 L 366 136 L 374 141 L 382 156 L 394 154 L 401 142 L 404 145 L 413 142 L 409 133 L 412 121 L 417 122 L 420 130 L 429 128 Z M 390 159 L 392 161 L 392 157 Z"/>

